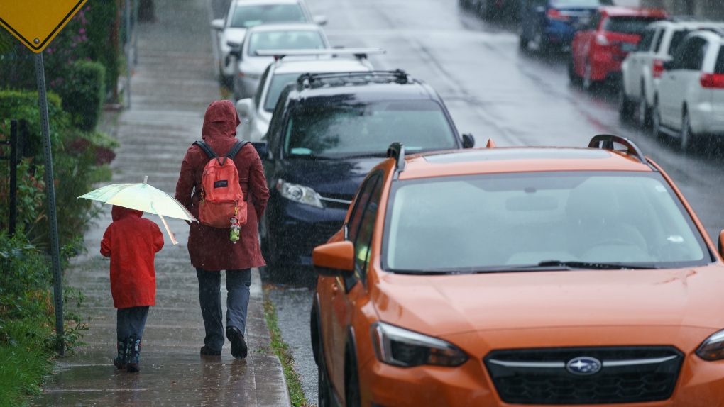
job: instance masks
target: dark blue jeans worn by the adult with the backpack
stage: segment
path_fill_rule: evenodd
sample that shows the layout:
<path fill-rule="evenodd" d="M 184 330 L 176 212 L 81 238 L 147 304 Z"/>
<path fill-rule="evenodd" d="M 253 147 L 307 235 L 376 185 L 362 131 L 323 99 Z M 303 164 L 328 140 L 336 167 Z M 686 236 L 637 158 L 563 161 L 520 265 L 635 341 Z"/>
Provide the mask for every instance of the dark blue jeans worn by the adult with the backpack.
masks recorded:
<path fill-rule="evenodd" d="M 198 276 L 198 301 L 201 304 L 203 327 L 206 337 L 203 344 L 214 351 L 224 346 L 224 325 L 222 324 L 221 283 L 219 271 L 196 269 Z M 246 310 L 249 306 L 249 287 L 251 287 L 251 269 L 226 270 L 227 284 L 227 328 L 237 327 L 244 333 L 246 328 Z"/>

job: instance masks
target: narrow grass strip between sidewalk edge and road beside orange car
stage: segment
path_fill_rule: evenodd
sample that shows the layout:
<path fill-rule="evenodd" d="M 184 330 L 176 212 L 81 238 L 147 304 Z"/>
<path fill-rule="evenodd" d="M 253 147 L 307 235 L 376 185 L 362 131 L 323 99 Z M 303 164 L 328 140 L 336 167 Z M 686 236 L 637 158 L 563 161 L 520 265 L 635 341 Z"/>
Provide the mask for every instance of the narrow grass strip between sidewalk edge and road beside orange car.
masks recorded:
<path fill-rule="evenodd" d="M 264 288 L 264 317 L 266 318 L 266 326 L 269 327 L 269 335 L 271 335 L 271 343 L 269 347 L 271 351 L 282 361 L 284 374 L 287 377 L 287 387 L 289 388 L 289 398 L 292 400 L 294 407 L 311 407 L 307 399 L 304 397 L 302 390 L 302 382 L 299 375 L 294 370 L 295 362 L 289 346 L 282 340 L 282 331 L 279 330 L 277 320 L 277 309 L 267 295 L 269 288 Z"/>

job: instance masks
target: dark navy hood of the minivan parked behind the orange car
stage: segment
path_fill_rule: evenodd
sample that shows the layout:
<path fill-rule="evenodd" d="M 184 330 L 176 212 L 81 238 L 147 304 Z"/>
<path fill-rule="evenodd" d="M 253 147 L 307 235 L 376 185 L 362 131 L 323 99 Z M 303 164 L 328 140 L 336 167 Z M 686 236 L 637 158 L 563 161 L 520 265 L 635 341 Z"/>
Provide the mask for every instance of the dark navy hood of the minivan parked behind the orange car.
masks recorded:
<path fill-rule="evenodd" d="M 323 197 L 352 200 L 367 173 L 383 159 L 313 160 L 287 157 L 277 175 L 285 181 L 311 187 Z"/>

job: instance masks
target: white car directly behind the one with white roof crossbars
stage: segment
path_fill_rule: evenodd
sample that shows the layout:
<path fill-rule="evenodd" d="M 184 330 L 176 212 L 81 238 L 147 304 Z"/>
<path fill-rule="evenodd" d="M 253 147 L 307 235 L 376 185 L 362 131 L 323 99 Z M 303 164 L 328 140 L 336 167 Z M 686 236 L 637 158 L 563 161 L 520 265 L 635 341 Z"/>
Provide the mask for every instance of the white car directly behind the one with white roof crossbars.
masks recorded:
<path fill-rule="evenodd" d="M 270 24 L 252 27 L 244 42 L 232 51 L 237 62 L 234 74 L 236 100 L 251 98 L 266 67 L 274 62 L 273 55 L 259 55 L 257 51 L 330 48 L 327 34 L 315 24 Z"/>

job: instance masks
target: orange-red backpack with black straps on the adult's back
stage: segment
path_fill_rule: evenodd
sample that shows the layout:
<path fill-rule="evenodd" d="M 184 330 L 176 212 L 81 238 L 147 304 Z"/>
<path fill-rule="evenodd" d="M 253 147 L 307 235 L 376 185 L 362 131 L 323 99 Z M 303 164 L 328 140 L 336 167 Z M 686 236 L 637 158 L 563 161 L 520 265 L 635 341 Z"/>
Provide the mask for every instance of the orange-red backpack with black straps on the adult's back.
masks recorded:
<path fill-rule="evenodd" d="M 219 158 L 206 142 L 193 144 L 201 147 L 209 157 L 201 176 L 201 206 L 198 220 L 202 225 L 214 228 L 229 228 L 231 218 L 237 218 L 240 225 L 246 223 L 246 201 L 239 184 L 239 171 L 234 156 L 248 141 L 239 140 L 224 158 Z"/>

